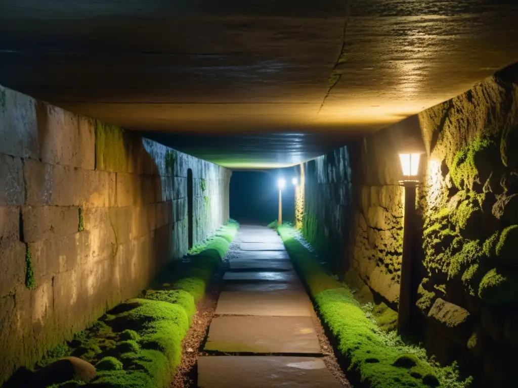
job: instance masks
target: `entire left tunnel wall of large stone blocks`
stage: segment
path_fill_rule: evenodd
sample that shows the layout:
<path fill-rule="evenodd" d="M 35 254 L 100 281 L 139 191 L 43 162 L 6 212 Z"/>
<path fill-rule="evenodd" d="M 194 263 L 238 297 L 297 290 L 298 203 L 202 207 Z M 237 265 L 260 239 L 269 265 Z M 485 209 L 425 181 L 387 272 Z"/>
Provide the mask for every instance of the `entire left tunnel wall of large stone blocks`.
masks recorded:
<path fill-rule="evenodd" d="M 0 384 L 228 219 L 231 172 L 0 86 Z"/>

